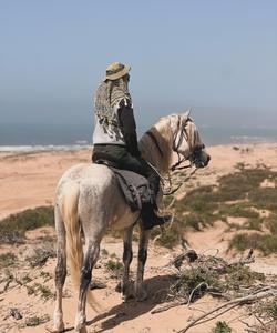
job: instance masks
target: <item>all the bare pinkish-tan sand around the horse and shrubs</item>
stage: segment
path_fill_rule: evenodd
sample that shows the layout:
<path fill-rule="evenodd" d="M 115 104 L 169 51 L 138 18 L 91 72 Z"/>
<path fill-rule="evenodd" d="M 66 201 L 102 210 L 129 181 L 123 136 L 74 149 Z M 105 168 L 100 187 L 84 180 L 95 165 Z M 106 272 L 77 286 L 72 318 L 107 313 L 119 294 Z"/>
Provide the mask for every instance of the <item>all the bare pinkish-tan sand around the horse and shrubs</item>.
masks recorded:
<path fill-rule="evenodd" d="M 277 143 L 247 144 L 247 145 L 217 145 L 207 148 L 212 161 L 208 168 L 199 170 L 196 174 L 196 184 L 213 184 L 223 175 L 232 172 L 237 163 L 248 165 L 265 164 L 273 170 L 277 170 Z M 53 204 L 53 195 L 55 185 L 62 173 L 79 162 L 90 163 L 91 152 L 89 150 L 78 152 L 43 152 L 28 154 L 7 154 L 0 153 L 0 219 L 28 208 Z M 267 184 L 265 184 L 267 185 Z M 184 195 L 187 189 L 182 188 L 178 195 Z M 22 259 L 39 244 L 40 235 L 54 234 L 52 229 L 42 229 L 30 232 L 29 241 L 24 245 L 17 249 L 9 249 L 7 245 L 0 245 L 0 252 L 13 251 Z M 187 232 L 186 239 L 191 245 L 198 252 L 219 250 L 225 255 L 228 235 L 225 233 L 225 226 L 218 222 L 214 226 L 205 229 L 203 232 Z M 135 243 L 135 249 L 137 244 Z M 122 256 L 122 243 L 119 240 L 105 238 L 102 243 L 110 254 L 115 253 L 120 259 Z M 151 244 L 148 261 L 145 272 L 145 282 L 150 294 L 153 296 L 161 291 L 162 286 L 166 286 L 167 276 L 160 268 L 168 263 L 179 249 L 174 251 Z M 94 276 L 101 278 L 107 283 L 107 287 L 94 292 L 103 307 L 101 314 L 95 314 L 88 309 L 88 331 L 89 332 L 177 332 L 187 324 L 187 320 L 193 315 L 196 316 L 207 307 L 215 306 L 217 301 L 211 300 L 208 296 L 193 304 L 189 309 L 186 305 L 171 309 L 160 314 L 151 314 L 151 311 L 157 306 L 151 301 L 143 303 L 129 302 L 123 303 L 119 293 L 114 287 L 117 283 L 116 279 L 109 275 L 104 268 L 105 259 L 102 258 L 94 270 Z M 132 271 L 135 272 L 136 255 L 132 263 Z M 16 274 L 21 276 L 29 272 L 35 281 L 44 283 L 52 291 L 54 290 L 53 278 L 44 281 L 41 271 L 53 276 L 55 260 L 51 259 L 45 266 L 33 269 L 30 272 L 27 263 L 16 270 Z M 276 258 L 257 258 L 253 268 L 260 272 L 277 274 Z M 72 286 L 71 279 L 66 280 L 65 291 L 68 296 L 64 297 L 64 319 L 65 325 L 73 332 L 74 315 L 76 307 L 76 293 Z M 0 333 L 3 332 L 48 332 L 51 329 L 52 319 L 45 324 L 35 327 L 18 329 L 21 321 L 16 321 L 9 315 L 11 307 L 18 307 L 25 317 L 33 315 L 52 316 L 53 300 L 43 301 L 35 295 L 28 295 L 24 287 L 14 285 L 7 293 L 0 294 Z M 233 327 L 234 332 L 244 332 L 244 324 L 240 316 L 244 315 L 244 309 L 233 310 L 220 316 L 226 320 Z M 218 319 L 217 319 L 218 320 Z M 188 332 L 205 333 L 209 332 L 215 322 L 208 322 L 201 326 L 194 327 Z"/>

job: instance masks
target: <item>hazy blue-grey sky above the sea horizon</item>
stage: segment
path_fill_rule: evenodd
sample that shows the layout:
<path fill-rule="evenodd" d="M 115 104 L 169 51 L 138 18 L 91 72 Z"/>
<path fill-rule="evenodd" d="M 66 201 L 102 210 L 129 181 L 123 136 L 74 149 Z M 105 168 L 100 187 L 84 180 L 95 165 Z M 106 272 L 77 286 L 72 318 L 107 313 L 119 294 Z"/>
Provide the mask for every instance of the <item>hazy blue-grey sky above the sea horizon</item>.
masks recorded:
<path fill-rule="evenodd" d="M 112 61 L 140 124 L 277 128 L 277 1 L 0 0 L 0 123 L 88 123 Z"/>

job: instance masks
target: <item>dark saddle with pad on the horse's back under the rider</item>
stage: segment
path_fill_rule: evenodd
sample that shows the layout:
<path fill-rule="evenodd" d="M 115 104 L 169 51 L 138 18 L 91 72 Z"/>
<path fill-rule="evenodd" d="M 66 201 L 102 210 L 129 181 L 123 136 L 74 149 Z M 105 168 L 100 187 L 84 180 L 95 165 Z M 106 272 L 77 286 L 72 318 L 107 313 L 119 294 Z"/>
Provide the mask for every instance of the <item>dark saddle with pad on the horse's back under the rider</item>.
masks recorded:
<path fill-rule="evenodd" d="M 133 171 L 117 169 L 111 161 L 96 160 L 94 163 L 104 164 L 113 171 L 131 211 L 142 210 L 144 203 L 153 204 L 155 202 L 154 192 L 145 176 Z"/>

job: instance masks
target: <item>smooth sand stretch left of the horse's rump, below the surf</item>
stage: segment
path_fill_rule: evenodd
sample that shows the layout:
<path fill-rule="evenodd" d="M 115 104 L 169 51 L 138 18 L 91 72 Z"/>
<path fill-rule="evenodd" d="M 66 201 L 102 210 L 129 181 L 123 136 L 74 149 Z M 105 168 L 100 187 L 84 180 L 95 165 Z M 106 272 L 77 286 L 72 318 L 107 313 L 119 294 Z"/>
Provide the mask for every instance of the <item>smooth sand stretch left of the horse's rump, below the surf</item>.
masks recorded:
<path fill-rule="evenodd" d="M 90 150 L 0 153 L 0 219 L 53 204 L 62 173 L 76 163 L 90 163 Z"/>

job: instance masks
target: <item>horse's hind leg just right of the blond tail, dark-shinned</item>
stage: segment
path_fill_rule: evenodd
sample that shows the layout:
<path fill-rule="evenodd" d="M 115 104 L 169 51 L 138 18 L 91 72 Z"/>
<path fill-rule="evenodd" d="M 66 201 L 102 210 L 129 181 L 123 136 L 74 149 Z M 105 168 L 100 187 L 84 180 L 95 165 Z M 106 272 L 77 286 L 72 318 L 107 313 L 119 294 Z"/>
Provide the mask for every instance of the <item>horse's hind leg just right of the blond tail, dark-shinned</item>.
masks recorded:
<path fill-rule="evenodd" d="M 86 333 L 85 329 L 85 304 L 86 293 L 91 283 L 92 269 L 99 259 L 100 252 L 100 239 L 86 240 L 88 246 L 84 256 L 84 263 L 81 270 L 79 301 L 78 301 L 78 313 L 75 319 L 75 331 L 79 333 Z"/>

